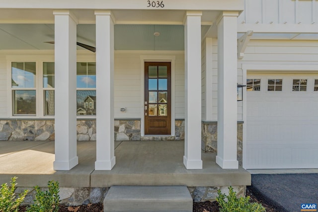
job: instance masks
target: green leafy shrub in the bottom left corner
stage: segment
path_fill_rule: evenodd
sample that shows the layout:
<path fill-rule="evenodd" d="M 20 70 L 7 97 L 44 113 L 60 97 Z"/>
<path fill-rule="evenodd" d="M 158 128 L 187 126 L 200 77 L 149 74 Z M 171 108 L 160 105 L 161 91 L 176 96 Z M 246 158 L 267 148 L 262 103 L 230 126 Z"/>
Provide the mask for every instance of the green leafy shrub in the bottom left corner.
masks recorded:
<path fill-rule="evenodd" d="M 0 212 L 17 212 L 20 204 L 23 202 L 25 196 L 29 192 L 28 190 L 24 190 L 24 192 L 20 194 L 18 198 L 16 198 L 14 194 L 16 178 L 17 177 L 11 178 L 10 187 L 6 183 L 1 185 Z"/>

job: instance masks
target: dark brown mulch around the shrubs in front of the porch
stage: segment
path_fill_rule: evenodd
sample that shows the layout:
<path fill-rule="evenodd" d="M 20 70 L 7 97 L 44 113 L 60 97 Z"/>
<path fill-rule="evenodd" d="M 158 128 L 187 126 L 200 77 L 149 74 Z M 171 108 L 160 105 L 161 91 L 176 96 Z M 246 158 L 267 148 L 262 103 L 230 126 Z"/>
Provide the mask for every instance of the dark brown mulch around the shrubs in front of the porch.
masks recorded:
<path fill-rule="evenodd" d="M 279 212 L 263 200 L 255 197 L 252 191 L 247 187 L 246 195 L 250 196 L 250 201 L 260 203 L 266 209 L 266 212 Z M 25 212 L 26 207 L 20 207 L 19 212 Z M 103 212 L 103 204 L 88 204 L 84 206 L 67 207 L 60 205 L 59 212 Z M 193 203 L 193 212 L 219 212 L 219 204 L 215 202 Z"/>

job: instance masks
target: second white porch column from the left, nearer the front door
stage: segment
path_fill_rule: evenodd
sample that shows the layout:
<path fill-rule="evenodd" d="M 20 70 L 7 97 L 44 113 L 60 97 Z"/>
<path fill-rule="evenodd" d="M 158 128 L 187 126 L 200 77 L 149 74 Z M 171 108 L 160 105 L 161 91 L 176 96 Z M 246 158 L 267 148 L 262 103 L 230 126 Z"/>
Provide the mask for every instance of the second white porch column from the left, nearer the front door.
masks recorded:
<path fill-rule="evenodd" d="M 114 147 L 114 18 L 96 10 L 96 161 L 95 170 L 111 170 Z"/>

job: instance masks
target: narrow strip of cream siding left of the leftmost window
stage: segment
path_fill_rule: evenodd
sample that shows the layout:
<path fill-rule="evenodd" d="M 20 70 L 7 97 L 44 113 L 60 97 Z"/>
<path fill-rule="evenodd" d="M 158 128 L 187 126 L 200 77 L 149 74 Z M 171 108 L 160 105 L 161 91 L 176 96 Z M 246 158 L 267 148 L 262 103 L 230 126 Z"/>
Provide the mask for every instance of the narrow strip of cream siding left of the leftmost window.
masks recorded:
<path fill-rule="evenodd" d="M 0 55 L 0 117 L 7 116 L 6 57 Z"/>

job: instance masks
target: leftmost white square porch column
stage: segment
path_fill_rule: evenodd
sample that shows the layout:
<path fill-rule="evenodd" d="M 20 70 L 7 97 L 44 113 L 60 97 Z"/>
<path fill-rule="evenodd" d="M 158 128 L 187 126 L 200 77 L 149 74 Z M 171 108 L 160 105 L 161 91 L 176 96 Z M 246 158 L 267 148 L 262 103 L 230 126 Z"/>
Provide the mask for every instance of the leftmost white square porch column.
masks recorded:
<path fill-rule="evenodd" d="M 55 161 L 54 170 L 79 163 L 76 133 L 76 25 L 69 10 L 55 15 Z"/>

